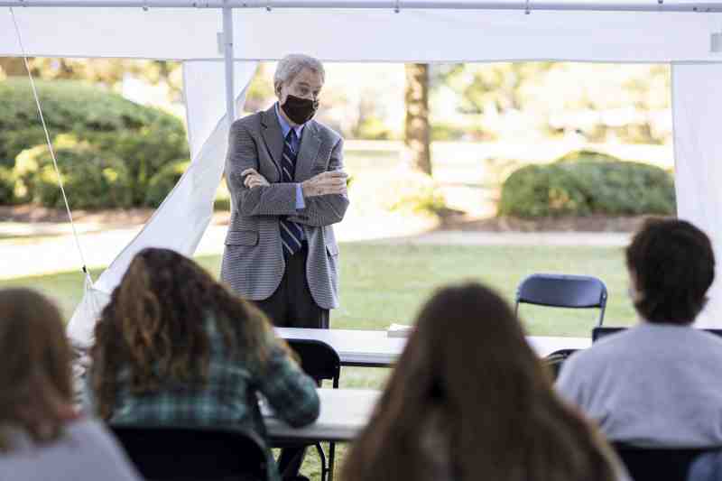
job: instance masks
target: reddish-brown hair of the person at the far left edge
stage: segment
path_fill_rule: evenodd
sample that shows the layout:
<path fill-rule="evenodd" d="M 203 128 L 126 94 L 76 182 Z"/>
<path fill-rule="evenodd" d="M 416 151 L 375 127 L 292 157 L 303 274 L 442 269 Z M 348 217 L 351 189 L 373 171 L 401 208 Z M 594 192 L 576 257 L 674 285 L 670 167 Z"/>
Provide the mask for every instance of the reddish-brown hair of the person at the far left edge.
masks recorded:
<path fill-rule="evenodd" d="M 57 439 L 73 398 L 71 350 L 60 311 L 30 289 L 0 290 L 0 452 L 13 449 L 2 428 L 36 442 Z"/>

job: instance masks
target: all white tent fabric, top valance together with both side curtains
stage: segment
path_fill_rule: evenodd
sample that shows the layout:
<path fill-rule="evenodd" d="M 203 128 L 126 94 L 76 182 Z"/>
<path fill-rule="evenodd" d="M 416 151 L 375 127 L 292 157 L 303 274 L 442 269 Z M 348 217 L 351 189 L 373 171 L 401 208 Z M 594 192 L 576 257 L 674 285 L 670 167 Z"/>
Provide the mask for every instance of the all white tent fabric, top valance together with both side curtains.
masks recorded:
<path fill-rule="evenodd" d="M 722 52 L 711 48 L 713 35 L 722 33 L 722 4 L 0 0 L 3 6 L 16 7 L 14 16 L 29 56 L 184 60 L 191 167 L 143 232 L 96 282 L 95 288 L 105 294 L 86 295 L 69 326 L 70 335 L 81 343 L 88 343 L 100 298 L 116 286 L 135 252 L 157 245 L 192 254 L 208 226 L 227 142 L 227 123 L 222 121 L 227 74 L 221 60 L 226 57 L 229 73 L 231 54 L 236 60 L 236 98 L 256 60 L 277 60 L 290 51 L 326 61 L 671 63 L 679 215 L 707 230 L 722 259 L 722 189 L 717 185 L 722 178 L 716 175 L 722 168 L 715 162 L 722 155 L 716 132 L 722 120 Z M 525 14 L 527 9 L 531 14 Z M 225 42 L 225 49 L 220 48 L 224 14 L 233 24 L 232 45 Z M 0 15 L 0 56 L 22 54 L 11 15 Z M 717 282 L 710 291 L 712 302 L 701 325 L 722 326 L 720 286 Z"/>

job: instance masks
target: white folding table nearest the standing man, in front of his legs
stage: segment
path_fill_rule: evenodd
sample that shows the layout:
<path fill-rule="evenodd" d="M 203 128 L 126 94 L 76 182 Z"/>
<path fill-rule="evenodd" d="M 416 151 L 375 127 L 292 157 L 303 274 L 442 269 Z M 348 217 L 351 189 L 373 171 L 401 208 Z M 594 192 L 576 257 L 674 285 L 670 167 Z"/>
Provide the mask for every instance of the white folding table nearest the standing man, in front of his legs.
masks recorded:
<path fill-rule="evenodd" d="M 336 349 L 341 365 L 389 367 L 393 365 L 406 345 L 406 338 L 389 338 L 384 330 L 275 328 L 276 335 L 284 339 L 316 339 Z M 591 346 L 590 338 L 559 338 L 528 336 L 527 342 L 536 353 L 549 356 L 560 349 L 585 349 Z"/>

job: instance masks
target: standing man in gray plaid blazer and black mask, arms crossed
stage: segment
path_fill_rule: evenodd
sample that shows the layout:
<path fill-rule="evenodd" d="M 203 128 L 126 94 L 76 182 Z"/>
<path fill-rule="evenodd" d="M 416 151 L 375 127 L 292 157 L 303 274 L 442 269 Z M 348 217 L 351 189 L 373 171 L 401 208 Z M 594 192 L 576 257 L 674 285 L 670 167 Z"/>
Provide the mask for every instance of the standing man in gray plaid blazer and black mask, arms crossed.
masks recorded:
<path fill-rule="evenodd" d="M 348 207 L 343 139 L 311 120 L 324 81 L 318 60 L 289 55 L 273 80 L 278 102 L 237 120 L 229 135 L 221 278 L 276 326 L 329 328 L 338 307 L 332 225 Z"/>

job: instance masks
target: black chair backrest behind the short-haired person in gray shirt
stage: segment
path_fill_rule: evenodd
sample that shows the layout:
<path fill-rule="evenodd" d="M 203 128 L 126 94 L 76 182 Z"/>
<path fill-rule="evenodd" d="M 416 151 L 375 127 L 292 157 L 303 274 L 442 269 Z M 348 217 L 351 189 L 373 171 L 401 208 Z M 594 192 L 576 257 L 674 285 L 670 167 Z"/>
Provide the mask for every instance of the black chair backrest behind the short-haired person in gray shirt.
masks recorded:
<path fill-rule="evenodd" d="M 692 462 L 699 455 L 719 448 L 638 448 L 613 443 L 616 453 L 634 481 L 687 481 Z"/>

